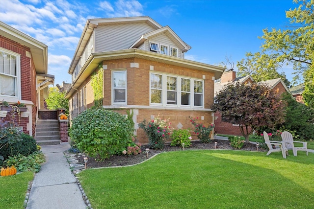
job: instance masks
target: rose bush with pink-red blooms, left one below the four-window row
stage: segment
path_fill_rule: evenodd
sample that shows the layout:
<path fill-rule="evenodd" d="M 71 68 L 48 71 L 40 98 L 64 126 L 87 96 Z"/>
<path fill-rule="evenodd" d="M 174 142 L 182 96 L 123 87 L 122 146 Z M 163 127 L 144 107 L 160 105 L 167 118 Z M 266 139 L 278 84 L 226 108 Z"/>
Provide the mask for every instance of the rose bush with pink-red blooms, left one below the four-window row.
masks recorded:
<path fill-rule="evenodd" d="M 169 119 L 161 119 L 158 115 L 148 123 L 144 120 L 138 127 L 144 129 L 148 136 L 150 149 L 163 149 L 164 142 L 169 139 L 170 125 Z"/>

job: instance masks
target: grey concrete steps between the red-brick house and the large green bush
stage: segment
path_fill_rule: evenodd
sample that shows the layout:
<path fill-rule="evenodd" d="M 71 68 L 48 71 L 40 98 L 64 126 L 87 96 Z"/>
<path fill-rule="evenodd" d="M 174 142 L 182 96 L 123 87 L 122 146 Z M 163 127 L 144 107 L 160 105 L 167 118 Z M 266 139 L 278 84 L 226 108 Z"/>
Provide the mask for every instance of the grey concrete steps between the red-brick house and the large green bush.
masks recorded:
<path fill-rule="evenodd" d="M 36 122 L 35 140 L 40 146 L 60 144 L 59 121 L 52 119 L 38 119 Z"/>

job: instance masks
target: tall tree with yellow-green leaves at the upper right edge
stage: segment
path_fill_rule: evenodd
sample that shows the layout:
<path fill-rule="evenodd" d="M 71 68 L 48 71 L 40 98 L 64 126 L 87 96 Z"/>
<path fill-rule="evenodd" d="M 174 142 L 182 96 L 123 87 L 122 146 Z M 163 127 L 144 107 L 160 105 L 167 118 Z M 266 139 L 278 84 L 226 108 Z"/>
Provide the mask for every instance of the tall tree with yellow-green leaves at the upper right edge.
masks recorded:
<path fill-rule="evenodd" d="M 314 0 L 293 0 L 298 8 L 286 11 L 288 29 L 263 30 L 262 52 L 269 53 L 280 66 L 292 64 L 293 80 L 303 75 L 305 81 L 304 101 L 314 105 Z"/>

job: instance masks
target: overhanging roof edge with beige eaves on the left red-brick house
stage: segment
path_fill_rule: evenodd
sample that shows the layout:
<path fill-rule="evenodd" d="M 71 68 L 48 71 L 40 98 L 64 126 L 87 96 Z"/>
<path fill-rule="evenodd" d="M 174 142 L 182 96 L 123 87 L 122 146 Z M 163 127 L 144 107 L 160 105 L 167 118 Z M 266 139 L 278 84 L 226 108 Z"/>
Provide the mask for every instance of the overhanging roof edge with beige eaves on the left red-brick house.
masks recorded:
<path fill-rule="evenodd" d="M 37 73 L 48 72 L 48 46 L 0 21 L 0 35 L 30 48 Z"/>

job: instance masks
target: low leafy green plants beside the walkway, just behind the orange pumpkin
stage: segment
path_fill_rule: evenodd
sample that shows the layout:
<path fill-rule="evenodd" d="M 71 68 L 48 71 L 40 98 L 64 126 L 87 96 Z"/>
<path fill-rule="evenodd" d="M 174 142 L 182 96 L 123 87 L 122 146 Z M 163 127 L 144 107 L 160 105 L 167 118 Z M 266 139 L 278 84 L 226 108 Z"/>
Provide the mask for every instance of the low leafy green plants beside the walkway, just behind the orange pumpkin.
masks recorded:
<path fill-rule="evenodd" d="M 42 152 L 36 151 L 28 156 L 17 154 L 8 157 L 8 159 L 4 161 L 4 164 L 5 166 L 14 165 L 17 172 L 32 171 L 37 173 L 41 167 L 40 164 L 44 162 L 45 155 Z"/>

